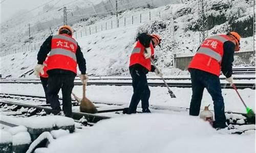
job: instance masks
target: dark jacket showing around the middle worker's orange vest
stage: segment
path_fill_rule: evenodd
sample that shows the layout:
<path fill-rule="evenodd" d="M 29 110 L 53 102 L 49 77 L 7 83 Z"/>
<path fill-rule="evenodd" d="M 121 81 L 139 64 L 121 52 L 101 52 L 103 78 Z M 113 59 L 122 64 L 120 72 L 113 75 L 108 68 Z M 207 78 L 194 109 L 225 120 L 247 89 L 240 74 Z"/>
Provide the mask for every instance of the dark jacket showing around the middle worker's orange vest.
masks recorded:
<path fill-rule="evenodd" d="M 150 43 L 152 41 L 152 38 L 151 36 L 147 35 L 146 33 L 142 33 L 142 34 L 139 34 L 138 37 L 136 38 L 136 41 L 140 41 L 140 43 L 144 46 L 144 47 L 150 47 Z M 155 67 L 153 65 L 151 65 L 151 71 L 154 72 L 155 71 Z M 129 67 L 129 70 L 130 71 L 133 71 L 133 70 L 139 70 L 139 71 L 142 71 L 143 73 L 148 73 L 148 70 L 140 65 L 140 64 L 134 64 L 132 66 Z"/>

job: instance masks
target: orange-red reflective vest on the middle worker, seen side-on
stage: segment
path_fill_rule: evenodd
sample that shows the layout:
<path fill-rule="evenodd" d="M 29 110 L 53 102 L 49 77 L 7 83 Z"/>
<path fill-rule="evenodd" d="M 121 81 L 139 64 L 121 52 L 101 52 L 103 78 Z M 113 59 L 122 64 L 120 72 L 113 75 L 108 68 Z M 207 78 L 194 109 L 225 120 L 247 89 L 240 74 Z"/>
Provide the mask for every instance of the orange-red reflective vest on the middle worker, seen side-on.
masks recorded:
<path fill-rule="evenodd" d="M 151 47 L 151 55 L 153 57 L 154 47 L 152 43 L 150 43 L 150 47 Z M 137 41 L 130 57 L 129 66 L 132 66 L 134 64 L 140 64 L 143 67 L 145 67 L 148 71 L 151 71 L 151 61 L 150 61 L 150 58 L 145 59 L 144 50 L 145 50 L 145 47 L 139 41 Z"/>

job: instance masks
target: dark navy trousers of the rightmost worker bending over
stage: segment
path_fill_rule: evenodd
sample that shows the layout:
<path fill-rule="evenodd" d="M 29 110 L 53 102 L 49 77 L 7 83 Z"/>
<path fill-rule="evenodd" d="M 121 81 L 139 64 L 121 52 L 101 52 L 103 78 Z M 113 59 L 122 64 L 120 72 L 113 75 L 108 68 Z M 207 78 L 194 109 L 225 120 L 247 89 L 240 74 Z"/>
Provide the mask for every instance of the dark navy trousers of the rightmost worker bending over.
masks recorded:
<path fill-rule="evenodd" d="M 192 98 L 189 107 L 189 115 L 198 116 L 204 88 L 207 89 L 214 101 L 215 127 L 226 127 L 224 100 L 221 93 L 220 79 L 217 75 L 198 70 L 189 69 L 192 83 Z"/>

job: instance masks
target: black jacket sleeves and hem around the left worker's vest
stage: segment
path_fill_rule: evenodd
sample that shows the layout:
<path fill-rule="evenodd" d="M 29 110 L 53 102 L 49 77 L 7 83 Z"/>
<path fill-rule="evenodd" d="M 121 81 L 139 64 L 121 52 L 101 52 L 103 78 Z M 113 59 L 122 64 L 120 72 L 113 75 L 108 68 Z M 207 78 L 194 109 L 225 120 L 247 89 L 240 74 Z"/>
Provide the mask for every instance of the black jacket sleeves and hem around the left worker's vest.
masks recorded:
<path fill-rule="evenodd" d="M 51 45 L 52 45 L 52 36 L 49 36 L 44 43 L 40 46 L 39 52 L 37 54 L 37 64 L 42 64 L 48 53 L 51 51 Z M 86 59 L 84 59 L 83 54 L 81 52 L 80 46 L 77 44 L 76 49 L 76 62 L 78 64 L 79 70 L 81 71 L 81 74 L 86 74 Z M 52 69 L 47 71 L 48 74 L 53 73 L 66 73 L 66 74 L 72 74 L 76 75 L 74 72 L 69 70 L 63 70 L 63 69 Z"/>

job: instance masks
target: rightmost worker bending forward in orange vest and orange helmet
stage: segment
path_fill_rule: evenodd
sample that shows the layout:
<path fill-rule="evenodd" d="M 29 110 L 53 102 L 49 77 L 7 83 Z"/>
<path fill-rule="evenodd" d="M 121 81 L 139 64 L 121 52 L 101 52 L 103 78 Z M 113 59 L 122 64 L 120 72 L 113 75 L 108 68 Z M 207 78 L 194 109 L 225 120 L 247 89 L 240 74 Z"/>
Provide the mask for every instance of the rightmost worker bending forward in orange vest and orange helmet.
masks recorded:
<path fill-rule="evenodd" d="M 233 83 L 232 62 L 234 52 L 240 50 L 240 35 L 229 32 L 226 35 L 216 35 L 203 41 L 196 55 L 188 65 L 191 76 L 192 97 L 189 115 L 198 116 L 204 88 L 207 89 L 214 101 L 216 129 L 225 128 L 226 116 L 224 100 L 221 93 L 220 70 L 226 81 Z"/>

